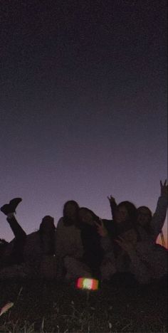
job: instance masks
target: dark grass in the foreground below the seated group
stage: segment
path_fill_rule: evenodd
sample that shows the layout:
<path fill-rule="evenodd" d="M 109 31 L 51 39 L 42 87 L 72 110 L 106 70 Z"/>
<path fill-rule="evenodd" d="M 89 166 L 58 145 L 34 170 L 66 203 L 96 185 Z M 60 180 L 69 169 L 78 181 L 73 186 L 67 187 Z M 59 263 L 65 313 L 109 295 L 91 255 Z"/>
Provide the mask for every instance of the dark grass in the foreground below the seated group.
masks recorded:
<path fill-rule="evenodd" d="M 77 290 L 54 281 L 1 281 L 0 332 L 167 332 L 167 284 L 145 287 L 102 285 Z"/>

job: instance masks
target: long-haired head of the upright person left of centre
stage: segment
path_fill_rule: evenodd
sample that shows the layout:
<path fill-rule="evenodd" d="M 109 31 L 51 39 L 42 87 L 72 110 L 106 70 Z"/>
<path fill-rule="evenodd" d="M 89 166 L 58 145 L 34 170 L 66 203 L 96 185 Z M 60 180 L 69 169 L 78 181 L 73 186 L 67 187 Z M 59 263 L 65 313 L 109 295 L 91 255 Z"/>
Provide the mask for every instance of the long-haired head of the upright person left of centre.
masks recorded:
<path fill-rule="evenodd" d="M 63 206 L 63 221 L 67 225 L 76 223 L 78 220 L 79 205 L 74 200 L 65 202 Z"/>

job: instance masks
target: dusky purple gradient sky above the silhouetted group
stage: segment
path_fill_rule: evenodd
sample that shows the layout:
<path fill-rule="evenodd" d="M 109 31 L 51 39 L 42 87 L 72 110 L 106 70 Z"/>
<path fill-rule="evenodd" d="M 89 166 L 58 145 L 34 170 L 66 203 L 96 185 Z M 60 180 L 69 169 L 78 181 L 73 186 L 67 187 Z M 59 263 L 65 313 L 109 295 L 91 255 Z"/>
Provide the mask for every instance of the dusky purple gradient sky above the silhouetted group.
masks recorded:
<path fill-rule="evenodd" d="M 1 205 L 26 233 L 69 199 L 154 211 L 167 178 L 167 1 L 1 1 Z M 0 237 L 13 237 L 0 216 Z M 167 224 L 164 226 L 166 235 Z"/>

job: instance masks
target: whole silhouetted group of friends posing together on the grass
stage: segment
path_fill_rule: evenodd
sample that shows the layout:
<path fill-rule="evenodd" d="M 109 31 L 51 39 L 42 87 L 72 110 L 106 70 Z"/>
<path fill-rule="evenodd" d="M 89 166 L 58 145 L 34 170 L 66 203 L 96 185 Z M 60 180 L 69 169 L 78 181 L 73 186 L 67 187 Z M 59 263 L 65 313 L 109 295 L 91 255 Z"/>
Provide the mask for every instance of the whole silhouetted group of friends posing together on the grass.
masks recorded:
<path fill-rule="evenodd" d="M 157 208 L 117 204 L 110 196 L 112 219 L 102 219 L 76 201 L 67 201 L 63 217 L 54 225 L 45 216 L 39 230 L 26 235 L 16 220 L 21 198 L 1 206 L 14 233 L 0 239 L 0 279 L 47 278 L 58 281 L 92 277 L 112 281 L 129 277 L 140 284 L 167 276 L 167 249 L 156 243 L 167 214 L 167 181 L 160 181 Z"/>

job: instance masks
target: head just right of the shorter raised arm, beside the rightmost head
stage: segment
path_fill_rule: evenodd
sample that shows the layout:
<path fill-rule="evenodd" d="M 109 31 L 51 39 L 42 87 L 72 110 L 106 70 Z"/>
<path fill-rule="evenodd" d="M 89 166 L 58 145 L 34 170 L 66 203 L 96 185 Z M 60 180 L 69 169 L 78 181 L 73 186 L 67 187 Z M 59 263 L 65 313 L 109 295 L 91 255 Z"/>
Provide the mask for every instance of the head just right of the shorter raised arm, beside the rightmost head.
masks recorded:
<path fill-rule="evenodd" d="M 122 223 L 124 221 L 131 221 L 136 223 L 137 221 L 137 208 L 130 201 L 122 201 L 119 203 L 115 210 L 115 221 Z"/>

